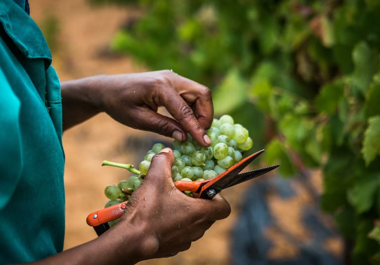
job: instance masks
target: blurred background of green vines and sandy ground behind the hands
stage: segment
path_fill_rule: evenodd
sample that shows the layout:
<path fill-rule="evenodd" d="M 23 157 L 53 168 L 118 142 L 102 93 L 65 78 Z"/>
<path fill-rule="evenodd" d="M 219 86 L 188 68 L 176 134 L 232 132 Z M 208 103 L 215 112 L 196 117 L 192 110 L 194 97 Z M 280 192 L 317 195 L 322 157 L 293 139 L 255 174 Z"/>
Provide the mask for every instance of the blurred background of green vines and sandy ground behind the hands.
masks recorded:
<path fill-rule="evenodd" d="M 231 216 L 190 250 L 141 264 L 380 263 L 380 2 L 33 0 L 61 80 L 172 69 L 213 90 L 275 173 L 223 191 Z M 105 114 L 63 136 L 65 249 L 109 184 L 171 139 Z M 257 166 L 257 164 L 256 164 Z M 133 242 L 131 242 L 133 244 Z M 117 247 L 117 246 L 115 246 Z"/>

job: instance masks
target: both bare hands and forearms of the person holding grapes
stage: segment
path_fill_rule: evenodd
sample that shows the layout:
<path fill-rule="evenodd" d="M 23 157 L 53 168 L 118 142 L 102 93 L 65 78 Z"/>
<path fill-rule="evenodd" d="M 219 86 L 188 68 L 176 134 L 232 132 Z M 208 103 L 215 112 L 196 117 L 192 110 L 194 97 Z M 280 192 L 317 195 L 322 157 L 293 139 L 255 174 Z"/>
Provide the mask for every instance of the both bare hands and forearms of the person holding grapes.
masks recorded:
<path fill-rule="evenodd" d="M 211 92 L 171 71 L 63 82 L 62 104 L 64 129 L 105 112 L 136 129 L 179 141 L 185 141 L 189 132 L 200 145 L 210 145 L 206 129 L 213 118 Z M 173 118 L 157 114 L 160 106 Z M 173 163 L 168 148 L 153 156 L 142 185 L 114 227 L 88 243 L 32 264 L 132 265 L 189 249 L 231 209 L 219 194 L 212 200 L 183 194 L 171 178 Z"/>

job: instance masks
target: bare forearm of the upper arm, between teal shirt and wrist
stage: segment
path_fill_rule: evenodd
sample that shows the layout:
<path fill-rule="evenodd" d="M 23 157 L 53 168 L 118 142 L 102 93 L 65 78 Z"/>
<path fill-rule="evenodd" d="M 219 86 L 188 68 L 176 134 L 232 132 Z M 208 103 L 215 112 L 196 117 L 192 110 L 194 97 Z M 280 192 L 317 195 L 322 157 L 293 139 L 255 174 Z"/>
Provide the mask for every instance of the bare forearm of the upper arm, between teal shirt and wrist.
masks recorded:
<path fill-rule="evenodd" d="M 61 82 L 63 130 L 102 112 L 98 83 L 104 76 Z"/>

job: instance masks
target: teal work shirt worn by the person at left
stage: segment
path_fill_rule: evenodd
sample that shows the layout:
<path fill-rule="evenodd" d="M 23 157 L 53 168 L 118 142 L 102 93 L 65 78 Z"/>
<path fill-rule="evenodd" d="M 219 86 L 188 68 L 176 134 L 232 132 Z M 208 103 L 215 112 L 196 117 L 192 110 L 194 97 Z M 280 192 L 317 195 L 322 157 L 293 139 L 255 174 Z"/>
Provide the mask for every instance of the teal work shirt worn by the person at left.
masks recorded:
<path fill-rule="evenodd" d="M 38 26 L 0 1 L 0 264 L 63 249 L 64 152 L 59 79 Z"/>

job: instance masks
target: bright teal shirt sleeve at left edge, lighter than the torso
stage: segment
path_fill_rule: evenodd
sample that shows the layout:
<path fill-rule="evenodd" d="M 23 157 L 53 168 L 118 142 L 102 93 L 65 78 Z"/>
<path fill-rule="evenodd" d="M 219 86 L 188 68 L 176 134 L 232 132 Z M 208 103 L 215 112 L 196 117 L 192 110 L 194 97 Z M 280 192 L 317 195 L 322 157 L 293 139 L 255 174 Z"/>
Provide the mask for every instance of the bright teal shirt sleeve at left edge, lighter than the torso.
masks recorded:
<path fill-rule="evenodd" d="M 3 51 L 0 43 L 0 209 L 11 198 L 22 170 L 20 100 L 4 74 Z"/>

